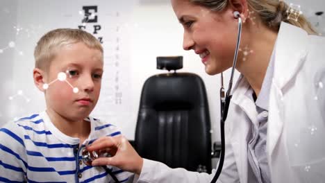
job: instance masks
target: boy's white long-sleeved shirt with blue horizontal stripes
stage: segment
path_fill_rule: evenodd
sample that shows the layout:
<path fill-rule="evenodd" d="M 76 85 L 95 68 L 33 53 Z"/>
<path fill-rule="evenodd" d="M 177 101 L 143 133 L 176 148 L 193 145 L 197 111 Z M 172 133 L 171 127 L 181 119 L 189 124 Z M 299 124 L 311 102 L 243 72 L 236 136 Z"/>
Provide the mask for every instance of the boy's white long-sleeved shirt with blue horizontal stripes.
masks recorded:
<path fill-rule="evenodd" d="M 114 182 L 102 167 L 81 160 L 85 143 L 121 134 L 115 127 L 88 117 L 91 132 L 79 148 L 79 139 L 60 132 L 46 112 L 7 123 L 0 129 L 0 182 Z M 116 167 L 120 182 L 132 182 L 133 174 Z"/>

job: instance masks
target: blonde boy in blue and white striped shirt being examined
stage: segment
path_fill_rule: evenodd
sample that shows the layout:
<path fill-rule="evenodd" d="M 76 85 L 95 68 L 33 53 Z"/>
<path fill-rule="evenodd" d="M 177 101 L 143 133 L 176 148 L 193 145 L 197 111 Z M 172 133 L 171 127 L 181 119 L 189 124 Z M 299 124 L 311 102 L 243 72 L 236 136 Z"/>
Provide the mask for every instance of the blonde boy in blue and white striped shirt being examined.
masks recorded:
<path fill-rule="evenodd" d="M 83 30 L 61 28 L 39 40 L 34 56 L 33 79 L 47 110 L 0 129 L 0 182 L 114 182 L 82 160 L 86 145 L 120 134 L 88 116 L 101 89 L 101 44 Z M 119 182 L 132 182 L 131 173 L 111 170 Z"/>

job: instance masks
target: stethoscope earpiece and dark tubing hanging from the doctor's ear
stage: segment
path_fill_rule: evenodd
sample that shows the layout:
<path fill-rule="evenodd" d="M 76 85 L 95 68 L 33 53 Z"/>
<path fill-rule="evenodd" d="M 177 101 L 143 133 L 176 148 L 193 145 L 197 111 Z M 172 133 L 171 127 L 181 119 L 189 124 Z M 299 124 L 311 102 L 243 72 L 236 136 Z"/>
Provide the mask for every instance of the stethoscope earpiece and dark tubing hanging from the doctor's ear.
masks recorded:
<path fill-rule="evenodd" d="M 215 173 L 215 176 L 213 177 L 213 180 L 211 180 L 211 183 L 217 182 L 219 175 L 222 172 L 222 166 L 224 166 L 224 148 L 225 148 L 225 142 L 224 142 L 224 122 L 227 119 L 228 115 L 228 109 L 229 104 L 231 101 L 231 87 L 233 87 L 233 75 L 235 73 L 235 66 L 237 62 L 237 56 L 238 56 L 238 49 L 240 45 L 240 37 L 242 35 L 242 19 L 240 18 L 240 13 L 238 11 L 233 12 L 233 16 L 235 19 L 238 19 L 238 37 L 237 37 L 237 44 L 235 49 L 235 56 L 233 58 L 233 68 L 231 69 L 231 79 L 229 80 L 228 85 L 228 91 L 226 92 L 226 97 L 224 96 L 224 76 L 221 74 L 221 84 L 222 87 L 220 88 L 220 137 L 221 137 L 221 143 L 222 143 L 222 149 L 219 157 L 219 166 L 217 168 L 217 171 Z"/>

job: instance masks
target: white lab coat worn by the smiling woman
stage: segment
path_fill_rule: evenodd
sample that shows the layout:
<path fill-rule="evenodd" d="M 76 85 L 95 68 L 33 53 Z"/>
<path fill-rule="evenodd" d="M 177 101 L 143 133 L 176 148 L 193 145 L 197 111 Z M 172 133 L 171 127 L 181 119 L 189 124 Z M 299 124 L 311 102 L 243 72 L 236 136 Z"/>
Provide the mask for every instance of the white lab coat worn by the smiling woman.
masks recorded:
<path fill-rule="evenodd" d="M 269 96 L 267 159 L 272 182 L 325 182 L 325 37 L 307 35 L 282 23 L 276 42 L 274 78 Z M 226 120 L 226 155 L 218 182 L 251 183 L 247 137 L 251 124 L 241 119 L 249 84 L 242 78 L 234 89 Z M 246 107 L 247 109 L 247 107 Z M 138 182 L 204 182 L 213 175 L 144 159 Z"/>

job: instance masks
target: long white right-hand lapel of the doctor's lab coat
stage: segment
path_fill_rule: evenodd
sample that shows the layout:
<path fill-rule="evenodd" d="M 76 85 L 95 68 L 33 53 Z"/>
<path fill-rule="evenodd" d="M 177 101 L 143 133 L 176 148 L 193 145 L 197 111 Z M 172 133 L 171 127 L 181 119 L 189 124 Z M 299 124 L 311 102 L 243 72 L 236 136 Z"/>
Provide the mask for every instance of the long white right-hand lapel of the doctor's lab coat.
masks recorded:
<path fill-rule="evenodd" d="M 267 129 L 267 150 L 272 155 L 276 143 L 283 131 L 283 97 L 288 83 L 297 74 L 306 60 L 307 33 L 296 26 L 281 23 L 276 44 L 276 58 L 274 62 L 274 78 L 272 91 L 275 97 L 270 98 L 269 122 Z M 272 104 L 271 104 L 272 102 Z M 270 160 L 270 158 L 269 158 Z M 272 162 L 269 162 L 272 163 Z"/>

